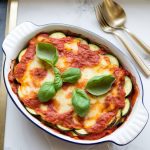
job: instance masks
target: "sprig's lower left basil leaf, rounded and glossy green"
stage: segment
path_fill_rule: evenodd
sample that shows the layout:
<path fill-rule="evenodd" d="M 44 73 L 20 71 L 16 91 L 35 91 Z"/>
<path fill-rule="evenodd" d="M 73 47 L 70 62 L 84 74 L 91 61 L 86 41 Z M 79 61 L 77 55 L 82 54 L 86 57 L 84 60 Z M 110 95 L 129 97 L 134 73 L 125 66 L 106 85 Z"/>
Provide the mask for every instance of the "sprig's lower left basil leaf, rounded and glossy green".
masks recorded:
<path fill-rule="evenodd" d="M 41 102 L 48 102 L 55 93 L 56 91 L 53 82 L 45 82 L 38 92 L 38 98 Z"/>

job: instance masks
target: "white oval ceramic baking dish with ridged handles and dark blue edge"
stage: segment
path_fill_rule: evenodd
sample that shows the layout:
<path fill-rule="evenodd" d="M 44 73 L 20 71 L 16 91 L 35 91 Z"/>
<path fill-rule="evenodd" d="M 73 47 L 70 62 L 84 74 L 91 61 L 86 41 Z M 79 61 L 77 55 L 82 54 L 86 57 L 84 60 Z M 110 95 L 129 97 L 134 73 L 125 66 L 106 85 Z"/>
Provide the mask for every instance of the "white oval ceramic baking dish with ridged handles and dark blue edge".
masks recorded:
<path fill-rule="evenodd" d="M 116 131 L 114 131 L 112 134 L 107 135 L 101 139 L 98 140 L 77 140 L 73 139 L 69 136 L 62 135 L 60 133 L 55 132 L 53 129 L 50 129 L 43 125 L 39 120 L 34 118 L 32 115 L 30 115 L 24 106 L 19 101 L 18 97 L 14 94 L 14 92 L 11 89 L 11 86 L 8 81 L 8 73 L 10 71 L 11 61 L 15 59 L 21 49 L 24 48 L 26 43 L 37 33 L 39 32 L 50 32 L 54 30 L 69 30 L 73 33 L 81 34 L 92 41 L 107 46 L 121 61 L 122 65 L 129 70 L 134 77 L 136 78 L 136 82 L 139 87 L 139 96 L 136 100 L 136 103 L 134 105 L 134 108 L 128 117 L 127 121 L 119 127 Z M 98 144 L 103 142 L 113 142 L 118 145 L 125 145 L 132 140 L 134 140 L 139 133 L 143 130 L 145 127 L 147 121 L 148 121 L 148 112 L 143 104 L 143 85 L 141 78 L 139 76 L 138 71 L 133 66 L 132 61 L 124 54 L 122 53 L 118 48 L 116 48 L 113 44 L 111 44 L 109 41 L 105 40 L 104 38 L 89 32 L 85 29 L 71 26 L 71 25 L 65 25 L 65 24 L 47 24 L 38 26 L 30 22 L 25 22 L 20 25 L 18 25 L 4 40 L 3 42 L 3 52 L 5 54 L 5 63 L 4 63 L 4 81 L 5 85 L 8 91 L 9 96 L 11 97 L 14 104 L 17 106 L 17 108 L 35 125 L 46 131 L 47 133 L 58 137 L 60 139 L 73 142 L 76 144 Z"/>

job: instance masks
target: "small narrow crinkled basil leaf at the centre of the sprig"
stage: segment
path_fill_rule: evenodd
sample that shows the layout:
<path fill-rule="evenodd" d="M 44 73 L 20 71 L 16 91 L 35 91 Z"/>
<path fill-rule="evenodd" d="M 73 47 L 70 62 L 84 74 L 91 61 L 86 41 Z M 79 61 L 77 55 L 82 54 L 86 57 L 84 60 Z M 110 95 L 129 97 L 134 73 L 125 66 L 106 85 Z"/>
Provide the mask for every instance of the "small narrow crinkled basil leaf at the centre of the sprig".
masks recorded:
<path fill-rule="evenodd" d="M 54 74 L 55 74 L 54 86 L 55 86 L 56 90 L 59 90 L 63 85 L 61 74 L 60 74 L 59 70 L 56 67 L 53 68 L 53 71 L 54 71 Z"/>

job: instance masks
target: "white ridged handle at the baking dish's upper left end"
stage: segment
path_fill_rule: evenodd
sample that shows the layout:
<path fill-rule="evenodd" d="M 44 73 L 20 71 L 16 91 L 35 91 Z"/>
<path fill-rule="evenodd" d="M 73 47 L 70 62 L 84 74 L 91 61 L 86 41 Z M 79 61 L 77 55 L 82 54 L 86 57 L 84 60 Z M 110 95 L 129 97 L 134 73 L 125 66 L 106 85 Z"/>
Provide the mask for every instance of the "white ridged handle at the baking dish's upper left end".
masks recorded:
<path fill-rule="evenodd" d="M 13 31 L 11 31 L 5 38 L 2 49 L 7 59 L 15 59 L 18 48 L 22 49 L 30 38 L 33 37 L 33 31 L 36 31 L 40 27 L 31 22 L 24 22 L 18 25 Z"/>

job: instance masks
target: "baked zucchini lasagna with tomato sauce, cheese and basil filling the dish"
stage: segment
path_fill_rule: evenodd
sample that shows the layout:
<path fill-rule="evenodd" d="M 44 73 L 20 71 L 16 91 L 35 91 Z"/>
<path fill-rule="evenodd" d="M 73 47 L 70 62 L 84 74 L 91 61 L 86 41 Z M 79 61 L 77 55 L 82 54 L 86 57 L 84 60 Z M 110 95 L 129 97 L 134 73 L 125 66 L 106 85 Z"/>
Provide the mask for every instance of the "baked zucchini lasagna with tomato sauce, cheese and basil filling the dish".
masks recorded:
<path fill-rule="evenodd" d="M 108 48 L 70 32 L 36 35 L 12 64 L 9 82 L 26 110 L 75 139 L 111 134 L 138 96 L 135 78 Z"/>

